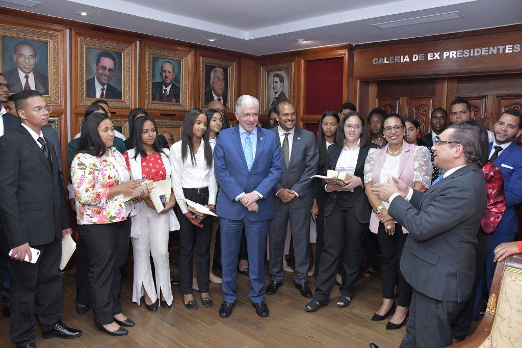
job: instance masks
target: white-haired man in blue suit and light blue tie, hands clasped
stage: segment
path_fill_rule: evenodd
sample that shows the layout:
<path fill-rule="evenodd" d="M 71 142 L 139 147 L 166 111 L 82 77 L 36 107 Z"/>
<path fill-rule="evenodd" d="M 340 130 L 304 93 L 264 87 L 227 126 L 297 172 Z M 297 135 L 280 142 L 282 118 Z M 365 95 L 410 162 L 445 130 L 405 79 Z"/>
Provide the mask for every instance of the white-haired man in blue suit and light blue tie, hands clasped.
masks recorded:
<path fill-rule="evenodd" d="M 258 127 L 259 101 L 242 95 L 235 104 L 239 125 L 220 131 L 214 148 L 214 167 L 219 183 L 216 213 L 221 226 L 223 303 L 219 316 L 232 314 L 238 294 L 235 275 L 246 233 L 250 267 L 248 297 L 260 317 L 268 317 L 265 303 L 264 257 L 268 220 L 274 217 L 271 190 L 283 172 L 281 146 L 274 132 Z"/>

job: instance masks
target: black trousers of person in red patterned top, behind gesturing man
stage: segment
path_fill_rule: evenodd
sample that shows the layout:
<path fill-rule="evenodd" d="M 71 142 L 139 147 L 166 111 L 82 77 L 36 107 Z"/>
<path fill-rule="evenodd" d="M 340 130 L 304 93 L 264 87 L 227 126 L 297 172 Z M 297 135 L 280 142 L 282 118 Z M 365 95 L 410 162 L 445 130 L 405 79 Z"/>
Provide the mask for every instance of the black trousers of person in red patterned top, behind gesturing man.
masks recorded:
<path fill-rule="evenodd" d="M 475 297 L 477 296 L 477 287 L 479 286 L 481 270 L 484 268 L 484 263 L 491 249 L 491 234 L 485 233 L 482 229 L 477 234 L 477 249 L 476 249 L 476 265 L 475 278 L 473 280 L 473 291 L 471 298 L 465 302 L 464 308 L 460 311 L 455 319 L 452 330 L 453 338 L 457 340 L 464 340 L 471 328 L 471 318 L 473 318 L 473 307 L 475 304 Z"/>

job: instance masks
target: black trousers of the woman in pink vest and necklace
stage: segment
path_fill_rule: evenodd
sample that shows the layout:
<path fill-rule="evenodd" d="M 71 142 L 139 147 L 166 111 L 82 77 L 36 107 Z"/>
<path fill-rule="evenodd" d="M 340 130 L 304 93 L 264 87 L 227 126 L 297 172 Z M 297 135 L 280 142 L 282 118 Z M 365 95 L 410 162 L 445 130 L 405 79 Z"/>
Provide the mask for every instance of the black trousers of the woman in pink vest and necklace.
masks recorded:
<path fill-rule="evenodd" d="M 383 253 L 381 262 L 383 298 L 392 299 L 397 284 L 399 287 L 398 305 L 402 307 L 410 305 L 412 292 L 411 285 L 404 279 L 400 271 L 400 257 L 406 238 L 408 238 L 408 234 L 402 233 L 402 226 L 398 223 L 395 224 L 395 233 L 391 236 L 384 232 L 384 225 L 379 223 L 377 239 Z"/>

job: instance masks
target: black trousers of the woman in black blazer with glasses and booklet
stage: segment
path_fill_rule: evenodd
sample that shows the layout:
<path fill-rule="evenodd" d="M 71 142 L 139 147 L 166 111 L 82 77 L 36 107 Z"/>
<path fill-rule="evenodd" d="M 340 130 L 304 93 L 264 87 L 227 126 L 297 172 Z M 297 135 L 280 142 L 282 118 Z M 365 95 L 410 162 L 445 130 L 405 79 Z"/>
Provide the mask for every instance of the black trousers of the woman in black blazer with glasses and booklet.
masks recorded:
<path fill-rule="evenodd" d="M 360 223 L 355 216 L 353 193 L 338 193 L 337 196 L 336 207 L 324 219 L 324 244 L 314 293 L 314 300 L 319 303 L 330 298 L 339 265 L 342 267 L 341 295 L 353 296 L 361 267 L 364 235 L 368 230 L 368 224 Z"/>

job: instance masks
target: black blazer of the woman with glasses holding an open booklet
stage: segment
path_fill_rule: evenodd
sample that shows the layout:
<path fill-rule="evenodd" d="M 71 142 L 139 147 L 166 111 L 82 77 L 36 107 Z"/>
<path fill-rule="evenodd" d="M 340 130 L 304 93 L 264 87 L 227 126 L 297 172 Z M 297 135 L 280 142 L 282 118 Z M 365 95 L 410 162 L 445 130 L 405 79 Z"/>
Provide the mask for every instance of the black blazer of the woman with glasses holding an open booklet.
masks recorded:
<path fill-rule="evenodd" d="M 364 162 L 366 161 L 366 157 L 368 157 L 368 151 L 375 148 L 377 148 L 377 145 L 375 145 L 373 142 L 370 142 L 369 145 L 363 146 L 359 149 L 359 156 L 357 157 L 357 164 L 355 165 L 355 172 L 353 173 L 355 176 L 359 176 L 363 183 L 363 186 L 358 186 L 353 189 L 353 193 L 355 194 L 355 217 L 357 217 L 357 221 L 360 223 L 369 223 L 370 215 L 372 214 L 372 206 L 370 205 L 370 201 L 368 200 L 368 197 L 364 191 Z M 330 145 L 330 147 L 328 147 L 328 155 L 326 157 L 326 164 L 323 175 L 326 175 L 328 170 L 335 170 L 337 160 L 339 160 L 339 156 L 341 154 L 341 150 L 342 148 L 339 147 L 336 143 L 333 143 Z M 338 194 L 342 194 L 342 192 L 327 193 L 329 197 L 325 205 L 325 217 L 330 215 L 334 210 L 334 207 L 337 203 Z"/>

